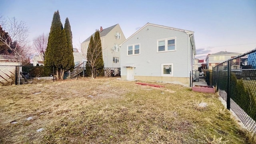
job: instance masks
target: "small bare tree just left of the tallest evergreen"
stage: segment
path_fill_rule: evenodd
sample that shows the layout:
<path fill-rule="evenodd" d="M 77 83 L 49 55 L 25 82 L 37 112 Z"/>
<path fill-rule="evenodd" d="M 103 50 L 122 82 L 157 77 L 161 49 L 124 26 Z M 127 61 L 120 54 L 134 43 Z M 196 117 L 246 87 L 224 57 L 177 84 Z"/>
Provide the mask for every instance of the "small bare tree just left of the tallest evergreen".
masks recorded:
<path fill-rule="evenodd" d="M 39 54 L 40 58 L 44 61 L 45 51 L 48 43 L 49 34 L 41 34 L 33 38 L 34 50 Z"/>

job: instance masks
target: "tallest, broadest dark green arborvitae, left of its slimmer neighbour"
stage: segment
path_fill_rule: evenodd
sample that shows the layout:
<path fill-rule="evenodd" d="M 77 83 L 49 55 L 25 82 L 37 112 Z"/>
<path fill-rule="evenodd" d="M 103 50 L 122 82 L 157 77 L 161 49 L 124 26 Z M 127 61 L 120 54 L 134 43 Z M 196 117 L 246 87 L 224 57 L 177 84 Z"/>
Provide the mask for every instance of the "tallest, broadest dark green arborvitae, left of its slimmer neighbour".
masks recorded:
<path fill-rule="evenodd" d="M 56 69 L 57 80 L 63 79 L 63 68 L 67 65 L 64 62 L 64 49 L 67 47 L 66 32 L 63 30 L 63 26 L 60 21 L 60 14 L 59 11 L 57 11 L 54 12 L 52 18 L 52 26 L 50 29 L 44 60 L 45 66 L 54 66 Z"/>

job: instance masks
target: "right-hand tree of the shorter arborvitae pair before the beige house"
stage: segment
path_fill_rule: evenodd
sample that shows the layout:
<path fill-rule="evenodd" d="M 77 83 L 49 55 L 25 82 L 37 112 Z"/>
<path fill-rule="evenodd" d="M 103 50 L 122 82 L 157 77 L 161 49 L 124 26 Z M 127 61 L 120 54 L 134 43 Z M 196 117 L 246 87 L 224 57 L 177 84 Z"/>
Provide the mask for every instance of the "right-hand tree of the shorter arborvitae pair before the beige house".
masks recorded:
<path fill-rule="evenodd" d="M 96 75 L 97 76 L 104 76 L 104 61 L 102 57 L 102 46 L 101 46 L 101 40 L 100 40 L 100 32 L 97 30 L 95 32 L 94 36 L 94 42 L 95 42 L 95 49 L 97 52 L 96 57 Z"/>

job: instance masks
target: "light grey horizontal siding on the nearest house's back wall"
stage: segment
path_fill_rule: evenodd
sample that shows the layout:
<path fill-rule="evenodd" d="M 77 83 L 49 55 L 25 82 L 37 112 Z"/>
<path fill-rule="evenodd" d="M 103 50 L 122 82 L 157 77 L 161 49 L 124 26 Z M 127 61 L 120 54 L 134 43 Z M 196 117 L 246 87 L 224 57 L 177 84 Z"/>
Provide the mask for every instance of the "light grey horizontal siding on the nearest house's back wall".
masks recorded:
<path fill-rule="evenodd" d="M 157 52 L 157 40 L 176 38 L 176 51 Z M 188 34 L 148 25 L 121 46 L 121 76 L 127 64 L 134 64 L 134 76 L 162 76 L 161 64 L 173 64 L 174 77 L 189 77 Z M 127 56 L 127 46 L 140 44 L 140 54 Z M 191 69 L 191 68 L 190 68 Z"/>

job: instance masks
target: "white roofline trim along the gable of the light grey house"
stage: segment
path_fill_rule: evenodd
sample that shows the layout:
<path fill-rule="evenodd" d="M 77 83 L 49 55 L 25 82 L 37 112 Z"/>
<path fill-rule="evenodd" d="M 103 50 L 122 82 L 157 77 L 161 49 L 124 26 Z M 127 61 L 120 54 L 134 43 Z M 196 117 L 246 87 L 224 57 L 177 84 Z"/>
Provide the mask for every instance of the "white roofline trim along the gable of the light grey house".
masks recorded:
<path fill-rule="evenodd" d="M 144 26 L 142 26 L 142 28 L 140 28 L 139 30 L 137 30 L 137 32 L 135 32 L 134 34 L 132 34 L 129 38 L 127 38 L 124 42 L 122 42 L 121 44 L 119 44 L 120 46 L 122 46 L 122 44 L 124 44 L 127 40 L 129 40 L 130 38 L 132 38 L 135 34 L 137 34 L 138 32 L 140 32 L 143 28 L 145 28 L 146 26 L 157 26 L 157 27 L 160 27 L 160 28 L 167 28 L 167 29 L 171 29 L 171 30 L 177 30 L 177 31 L 180 31 L 180 32 L 185 32 L 186 34 L 194 34 L 193 31 L 190 31 L 190 30 L 183 30 L 183 29 L 179 29 L 179 28 L 172 28 L 172 27 L 168 27 L 168 26 L 162 26 L 162 25 L 158 25 L 158 24 L 151 24 L 151 23 L 147 23 L 145 24 Z M 193 40 L 194 40 L 194 35 L 193 35 Z"/>

